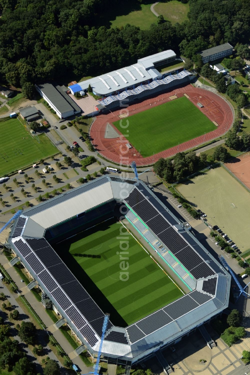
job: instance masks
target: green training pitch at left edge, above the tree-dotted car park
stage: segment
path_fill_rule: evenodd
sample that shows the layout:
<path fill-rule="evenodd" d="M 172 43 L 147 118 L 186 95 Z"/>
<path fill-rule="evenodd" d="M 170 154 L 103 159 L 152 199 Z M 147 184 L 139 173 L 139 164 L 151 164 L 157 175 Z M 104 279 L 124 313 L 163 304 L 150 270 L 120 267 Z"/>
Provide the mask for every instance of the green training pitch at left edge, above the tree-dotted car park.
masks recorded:
<path fill-rule="evenodd" d="M 9 174 L 58 152 L 45 134 L 32 137 L 16 118 L 0 122 L 0 175 Z M 39 142 L 38 142 L 39 139 Z"/>

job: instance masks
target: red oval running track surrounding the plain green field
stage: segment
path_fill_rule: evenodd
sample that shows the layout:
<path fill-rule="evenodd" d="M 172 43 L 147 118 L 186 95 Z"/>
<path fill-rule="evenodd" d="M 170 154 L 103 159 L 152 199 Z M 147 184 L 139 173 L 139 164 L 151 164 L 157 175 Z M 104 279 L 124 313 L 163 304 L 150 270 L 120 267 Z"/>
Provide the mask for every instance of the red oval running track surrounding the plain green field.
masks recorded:
<path fill-rule="evenodd" d="M 211 121 L 215 121 L 217 124 L 219 124 L 215 130 L 148 157 L 143 157 L 141 154 L 139 154 L 138 150 L 133 147 L 130 149 L 127 148 L 126 144 L 129 141 L 128 138 L 126 138 L 125 129 L 124 135 L 120 133 L 120 138 L 105 138 L 107 123 L 112 124 L 114 121 L 120 120 L 118 115 L 126 112 L 129 113 L 129 115 L 139 113 L 152 108 L 152 106 L 170 101 L 171 99 L 169 99 L 169 97 L 172 95 L 176 95 L 178 98 L 180 98 L 185 93 L 189 96 L 189 100 L 192 101 L 192 103 L 196 105 L 196 107 L 199 108 L 199 110 L 201 110 Z M 204 107 L 198 107 L 198 102 Z M 126 101 L 123 103 L 125 104 Z M 152 165 L 160 157 L 173 156 L 177 152 L 186 151 L 225 134 L 230 129 L 233 120 L 234 114 L 232 109 L 222 97 L 208 90 L 193 87 L 190 84 L 174 89 L 171 92 L 160 94 L 154 98 L 146 99 L 143 102 L 132 104 L 129 107 L 121 107 L 115 112 L 97 116 L 96 121 L 94 121 L 90 128 L 90 137 L 96 150 L 106 159 L 120 165 L 129 165 L 129 163 L 134 160 L 137 166 L 144 166 Z M 123 123 L 125 123 L 124 120 Z M 115 130 L 119 133 L 116 128 Z"/>

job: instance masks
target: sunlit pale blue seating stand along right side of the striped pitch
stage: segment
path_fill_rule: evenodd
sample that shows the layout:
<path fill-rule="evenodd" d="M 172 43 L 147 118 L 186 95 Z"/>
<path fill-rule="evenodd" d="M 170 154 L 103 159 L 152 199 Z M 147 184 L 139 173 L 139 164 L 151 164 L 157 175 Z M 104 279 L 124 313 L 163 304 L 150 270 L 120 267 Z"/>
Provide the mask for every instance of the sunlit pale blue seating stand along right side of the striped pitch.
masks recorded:
<path fill-rule="evenodd" d="M 150 245 L 157 251 L 158 254 L 162 256 L 166 263 L 174 269 L 174 271 L 180 276 L 181 279 L 183 279 L 183 281 L 190 287 L 190 289 L 195 290 L 196 279 L 192 279 L 183 269 L 183 267 L 180 266 L 180 264 L 176 264 L 176 260 L 169 254 L 168 249 L 166 249 L 162 245 L 162 243 L 159 242 L 159 240 L 150 232 L 150 230 L 147 230 L 145 232 L 146 227 L 142 224 L 138 217 L 136 217 L 136 215 L 131 210 L 129 210 L 125 216 L 133 224 L 133 226 L 135 226 L 141 236 L 143 236 L 148 241 L 148 243 L 150 243 Z M 159 248 L 160 246 L 162 246 L 161 249 Z M 176 265 L 174 266 L 174 264 Z"/>

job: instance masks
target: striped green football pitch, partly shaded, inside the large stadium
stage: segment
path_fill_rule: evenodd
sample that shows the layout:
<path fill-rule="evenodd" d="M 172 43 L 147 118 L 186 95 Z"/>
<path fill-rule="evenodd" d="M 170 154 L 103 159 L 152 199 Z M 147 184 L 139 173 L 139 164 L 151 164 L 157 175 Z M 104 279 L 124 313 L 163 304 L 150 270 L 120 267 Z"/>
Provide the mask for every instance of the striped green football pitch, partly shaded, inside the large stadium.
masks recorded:
<path fill-rule="evenodd" d="M 120 236 L 121 226 L 108 220 L 54 248 L 112 323 L 126 327 L 183 293 L 126 228 Z M 119 237 L 128 241 L 128 254 L 122 254 Z"/>

